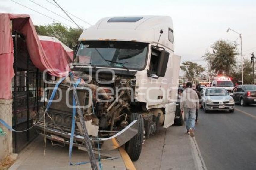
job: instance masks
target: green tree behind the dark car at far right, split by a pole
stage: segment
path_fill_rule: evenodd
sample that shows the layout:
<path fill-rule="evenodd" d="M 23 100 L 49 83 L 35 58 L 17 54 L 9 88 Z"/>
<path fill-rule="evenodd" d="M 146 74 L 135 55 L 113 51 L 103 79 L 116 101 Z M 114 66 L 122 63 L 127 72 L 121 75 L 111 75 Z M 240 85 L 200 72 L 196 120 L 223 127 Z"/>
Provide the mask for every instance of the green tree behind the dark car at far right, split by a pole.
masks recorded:
<path fill-rule="evenodd" d="M 251 60 L 245 59 L 244 65 L 243 65 L 243 71 L 244 71 L 244 84 L 253 84 L 253 68 L 251 64 Z M 233 73 L 231 73 L 232 81 L 233 83 L 236 83 L 238 81 L 242 80 L 242 73 L 241 73 L 241 64 L 236 66 L 233 69 Z"/>

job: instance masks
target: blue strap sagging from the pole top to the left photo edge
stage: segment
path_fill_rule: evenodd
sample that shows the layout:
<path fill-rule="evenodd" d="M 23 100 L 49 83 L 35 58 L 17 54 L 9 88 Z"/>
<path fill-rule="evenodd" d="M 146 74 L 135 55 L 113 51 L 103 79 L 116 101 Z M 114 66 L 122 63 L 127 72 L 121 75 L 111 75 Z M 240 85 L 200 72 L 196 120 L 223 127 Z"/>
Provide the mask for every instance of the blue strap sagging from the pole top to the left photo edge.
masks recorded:
<path fill-rule="evenodd" d="M 62 77 L 61 78 L 61 80 L 59 80 L 57 83 L 56 83 L 56 85 L 55 85 L 55 87 L 54 87 L 54 89 L 53 89 L 53 91 L 52 91 L 52 95 L 51 95 L 51 97 L 50 97 L 50 99 L 49 99 L 49 102 L 48 102 L 48 104 L 47 104 L 47 106 L 46 106 L 46 111 L 50 108 L 50 106 L 51 106 L 51 104 L 52 104 L 52 100 L 53 100 L 53 98 L 54 98 L 54 96 L 55 96 L 55 93 L 56 93 L 56 91 L 57 91 L 57 89 L 58 89 L 58 86 L 60 85 L 60 83 L 65 79 L 66 77 Z M 44 116 L 44 115 L 43 115 Z M 42 117 L 43 117 L 42 116 Z M 42 118 L 41 117 L 41 118 Z M 41 120 L 41 118 L 40 118 L 40 120 Z M 39 121 L 38 121 L 39 122 Z M 37 122 L 37 123 L 38 123 Z M 26 129 L 26 130 L 22 130 L 22 131 L 16 131 L 15 129 L 13 129 L 11 126 L 9 126 L 4 120 L 2 120 L 2 119 L 0 119 L 0 123 L 2 124 L 2 125 L 4 125 L 7 129 L 9 129 L 10 131 L 13 131 L 13 132 L 25 132 L 25 131 L 27 131 L 27 130 L 29 130 L 29 129 L 31 129 L 33 126 L 35 126 L 37 123 L 35 123 L 33 126 L 31 126 L 30 128 L 28 128 L 28 129 Z"/>

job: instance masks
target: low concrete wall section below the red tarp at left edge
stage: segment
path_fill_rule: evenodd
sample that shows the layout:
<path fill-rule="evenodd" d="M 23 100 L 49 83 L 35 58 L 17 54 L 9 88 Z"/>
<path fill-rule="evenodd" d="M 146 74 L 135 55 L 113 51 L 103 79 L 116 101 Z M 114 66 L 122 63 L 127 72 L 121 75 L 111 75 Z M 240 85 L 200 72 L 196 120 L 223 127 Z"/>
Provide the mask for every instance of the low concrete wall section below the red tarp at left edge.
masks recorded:
<path fill-rule="evenodd" d="M 12 126 L 12 99 L 0 99 L 0 118 Z M 0 127 L 6 135 L 0 136 L 0 160 L 12 154 L 12 132 L 2 124 Z"/>

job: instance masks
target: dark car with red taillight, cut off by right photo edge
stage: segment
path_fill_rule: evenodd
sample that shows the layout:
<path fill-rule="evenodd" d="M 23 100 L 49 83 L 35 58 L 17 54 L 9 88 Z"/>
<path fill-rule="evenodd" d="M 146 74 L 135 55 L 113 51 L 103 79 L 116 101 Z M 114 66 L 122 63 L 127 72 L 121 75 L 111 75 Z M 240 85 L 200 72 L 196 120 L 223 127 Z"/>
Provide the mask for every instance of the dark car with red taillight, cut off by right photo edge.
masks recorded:
<path fill-rule="evenodd" d="M 235 103 L 240 103 L 241 106 L 256 103 L 256 85 L 238 85 L 230 95 Z"/>

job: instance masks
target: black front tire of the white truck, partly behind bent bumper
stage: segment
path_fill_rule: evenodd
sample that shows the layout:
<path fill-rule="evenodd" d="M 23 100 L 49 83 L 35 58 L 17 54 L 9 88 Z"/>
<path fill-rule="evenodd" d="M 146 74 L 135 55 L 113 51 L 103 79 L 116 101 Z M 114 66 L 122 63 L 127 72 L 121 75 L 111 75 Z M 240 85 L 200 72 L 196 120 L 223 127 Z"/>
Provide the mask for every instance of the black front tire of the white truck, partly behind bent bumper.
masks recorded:
<path fill-rule="evenodd" d="M 132 161 L 139 159 L 143 144 L 144 121 L 141 114 L 132 113 L 130 122 L 138 120 L 138 133 L 130 141 L 125 144 L 125 150 L 130 156 Z"/>

